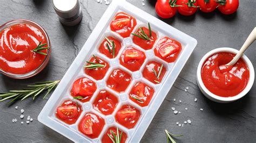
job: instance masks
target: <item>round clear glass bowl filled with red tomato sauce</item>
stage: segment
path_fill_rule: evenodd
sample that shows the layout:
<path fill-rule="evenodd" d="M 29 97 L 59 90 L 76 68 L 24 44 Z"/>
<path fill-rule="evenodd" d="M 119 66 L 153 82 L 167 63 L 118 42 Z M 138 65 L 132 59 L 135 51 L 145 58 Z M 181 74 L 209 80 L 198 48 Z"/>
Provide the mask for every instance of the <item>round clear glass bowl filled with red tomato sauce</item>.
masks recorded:
<path fill-rule="evenodd" d="M 38 45 L 49 48 L 33 51 Z M 16 19 L 0 26 L 0 73 L 16 79 L 35 76 L 45 68 L 50 56 L 50 39 L 39 24 Z"/>

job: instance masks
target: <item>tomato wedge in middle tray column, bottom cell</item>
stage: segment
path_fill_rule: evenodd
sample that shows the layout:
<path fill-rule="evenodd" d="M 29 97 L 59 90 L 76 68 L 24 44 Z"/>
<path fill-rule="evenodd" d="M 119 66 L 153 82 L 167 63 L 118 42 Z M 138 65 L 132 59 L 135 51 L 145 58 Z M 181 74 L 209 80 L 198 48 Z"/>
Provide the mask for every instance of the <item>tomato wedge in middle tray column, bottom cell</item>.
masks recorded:
<path fill-rule="evenodd" d="M 87 115 L 82 120 L 82 132 L 85 134 L 92 134 L 92 119 L 91 115 Z"/>

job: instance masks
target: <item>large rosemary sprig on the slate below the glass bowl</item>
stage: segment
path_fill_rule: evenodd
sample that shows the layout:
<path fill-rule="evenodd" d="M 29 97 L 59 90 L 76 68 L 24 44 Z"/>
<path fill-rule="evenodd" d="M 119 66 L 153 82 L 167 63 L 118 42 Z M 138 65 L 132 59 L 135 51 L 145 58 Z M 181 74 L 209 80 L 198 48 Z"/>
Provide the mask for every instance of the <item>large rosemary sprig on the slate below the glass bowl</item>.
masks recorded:
<path fill-rule="evenodd" d="M 11 99 L 8 104 L 14 103 L 21 99 L 23 101 L 24 99 L 28 97 L 32 97 L 34 100 L 36 96 L 42 93 L 44 90 L 48 90 L 46 94 L 44 95 L 43 99 L 49 94 L 49 92 L 56 88 L 58 83 L 60 81 L 46 81 L 46 82 L 37 82 L 33 85 L 27 85 L 29 88 L 24 88 L 23 90 L 10 90 L 9 92 L 5 92 L 0 94 L 0 97 L 2 97 L 1 101 L 5 101 L 6 99 Z"/>

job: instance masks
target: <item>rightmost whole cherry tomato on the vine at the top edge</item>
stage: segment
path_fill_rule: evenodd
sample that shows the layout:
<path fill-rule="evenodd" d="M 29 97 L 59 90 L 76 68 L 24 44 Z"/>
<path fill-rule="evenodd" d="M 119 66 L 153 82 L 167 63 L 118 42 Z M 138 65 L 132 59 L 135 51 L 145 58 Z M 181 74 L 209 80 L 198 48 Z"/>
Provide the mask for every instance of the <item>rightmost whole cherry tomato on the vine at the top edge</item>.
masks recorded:
<path fill-rule="evenodd" d="M 218 10 L 224 15 L 231 15 L 232 13 L 237 11 L 238 6 L 239 6 L 238 0 L 226 0 L 226 3 L 220 3 Z"/>

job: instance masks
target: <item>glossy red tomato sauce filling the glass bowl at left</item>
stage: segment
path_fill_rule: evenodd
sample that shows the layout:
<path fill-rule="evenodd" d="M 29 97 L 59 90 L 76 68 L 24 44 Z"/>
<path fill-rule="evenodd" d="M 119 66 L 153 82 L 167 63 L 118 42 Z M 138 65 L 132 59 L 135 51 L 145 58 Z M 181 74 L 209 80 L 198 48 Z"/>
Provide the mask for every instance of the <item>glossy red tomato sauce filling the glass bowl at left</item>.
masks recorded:
<path fill-rule="evenodd" d="M 5 28 L 0 33 L 0 69 L 11 74 L 26 74 L 37 69 L 46 58 L 32 51 L 40 41 L 47 43 L 46 35 L 32 25 L 16 24 Z M 47 49 L 41 52 L 47 53 Z"/>

